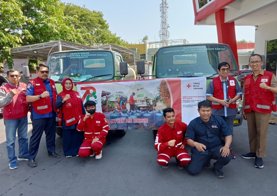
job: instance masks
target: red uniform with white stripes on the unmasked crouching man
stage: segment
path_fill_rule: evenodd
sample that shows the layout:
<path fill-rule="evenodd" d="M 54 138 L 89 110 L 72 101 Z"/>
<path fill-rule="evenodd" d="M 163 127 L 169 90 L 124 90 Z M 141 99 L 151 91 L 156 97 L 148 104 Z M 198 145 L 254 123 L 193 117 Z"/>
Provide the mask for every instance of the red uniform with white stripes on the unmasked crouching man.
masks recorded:
<path fill-rule="evenodd" d="M 157 162 L 165 166 L 172 156 L 179 160 L 181 166 L 190 162 L 191 158 L 188 151 L 180 148 L 187 144 L 186 138 L 183 140 L 183 133 L 186 132 L 187 125 L 183 122 L 175 122 L 174 129 L 171 129 L 167 123 L 163 124 L 157 133 L 155 140 L 155 149 L 158 150 Z M 175 146 L 168 146 L 170 140 L 176 140 Z"/>

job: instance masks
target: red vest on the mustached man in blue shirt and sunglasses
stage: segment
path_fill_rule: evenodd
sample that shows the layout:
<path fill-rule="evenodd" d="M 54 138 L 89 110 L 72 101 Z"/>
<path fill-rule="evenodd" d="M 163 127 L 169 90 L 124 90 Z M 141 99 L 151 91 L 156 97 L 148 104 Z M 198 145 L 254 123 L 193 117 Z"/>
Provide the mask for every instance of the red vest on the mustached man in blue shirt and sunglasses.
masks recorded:
<path fill-rule="evenodd" d="M 53 109 L 55 112 L 57 112 L 57 109 L 55 108 L 55 102 L 57 100 L 55 82 L 50 78 L 48 78 L 48 80 L 50 82 L 50 88 L 52 88 L 53 93 Z M 46 91 L 44 82 L 39 77 L 30 80 L 30 82 L 32 83 L 35 90 L 34 95 L 40 95 L 44 91 Z M 50 97 L 41 98 L 37 101 L 32 102 L 32 108 L 34 108 L 35 112 L 38 114 L 47 114 L 52 112 L 52 103 Z"/>

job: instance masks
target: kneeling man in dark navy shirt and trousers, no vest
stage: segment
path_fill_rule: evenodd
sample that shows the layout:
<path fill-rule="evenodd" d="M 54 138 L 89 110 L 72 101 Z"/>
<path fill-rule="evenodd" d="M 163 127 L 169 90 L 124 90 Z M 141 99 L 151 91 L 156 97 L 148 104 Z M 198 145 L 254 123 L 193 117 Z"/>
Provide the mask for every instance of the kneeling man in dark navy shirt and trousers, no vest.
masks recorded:
<path fill-rule="evenodd" d="M 220 116 L 212 115 L 212 104 L 205 100 L 198 103 L 199 117 L 193 119 L 187 128 L 186 139 L 191 147 L 191 162 L 188 164 L 188 172 L 196 175 L 211 166 L 211 159 L 217 160 L 214 163 L 213 171 L 216 177 L 222 178 L 222 168 L 227 165 L 232 156 L 229 146 L 232 142 L 232 135 L 226 122 Z M 225 137 L 225 145 L 220 135 Z"/>

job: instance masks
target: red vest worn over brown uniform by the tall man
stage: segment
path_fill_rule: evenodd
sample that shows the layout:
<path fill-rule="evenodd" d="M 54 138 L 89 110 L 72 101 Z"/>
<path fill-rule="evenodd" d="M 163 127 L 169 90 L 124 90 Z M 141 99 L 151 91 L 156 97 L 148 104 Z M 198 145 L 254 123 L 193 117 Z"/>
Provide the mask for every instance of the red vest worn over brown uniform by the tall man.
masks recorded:
<path fill-rule="evenodd" d="M 263 75 L 259 74 L 256 82 L 252 74 L 244 77 L 245 113 L 251 112 L 251 110 L 267 114 L 271 113 L 271 111 L 276 112 L 274 93 L 260 87 L 262 82 L 265 82 L 270 87 L 272 76 L 272 72 L 264 71 Z"/>

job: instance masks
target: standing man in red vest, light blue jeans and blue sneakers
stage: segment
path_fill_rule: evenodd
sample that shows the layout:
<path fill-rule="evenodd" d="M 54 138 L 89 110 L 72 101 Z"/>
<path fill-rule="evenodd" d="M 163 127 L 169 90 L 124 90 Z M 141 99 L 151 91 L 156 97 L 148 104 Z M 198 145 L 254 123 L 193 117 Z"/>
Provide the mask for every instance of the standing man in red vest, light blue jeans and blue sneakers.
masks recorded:
<path fill-rule="evenodd" d="M 9 83 L 0 87 L 0 107 L 3 107 L 4 125 L 6 127 L 6 146 L 10 169 L 18 168 L 16 160 L 28 160 L 28 109 L 25 97 L 26 84 L 20 83 L 16 69 L 7 71 Z M 18 137 L 19 156 L 15 156 L 14 142 Z"/>

